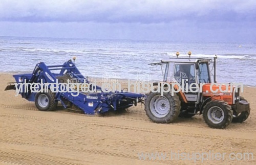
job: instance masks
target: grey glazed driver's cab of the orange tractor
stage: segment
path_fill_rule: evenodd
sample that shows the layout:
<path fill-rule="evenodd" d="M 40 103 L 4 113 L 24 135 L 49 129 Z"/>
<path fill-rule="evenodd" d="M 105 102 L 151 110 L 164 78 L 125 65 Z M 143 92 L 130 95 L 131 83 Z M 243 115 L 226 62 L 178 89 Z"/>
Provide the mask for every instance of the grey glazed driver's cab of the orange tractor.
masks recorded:
<path fill-rule="evenodd" d="M 211 58 L 169 58 L 168 61 L 159 63 L 151 63 L 150 65 L 165 66 L 163 82 L 179 83 L 183 93 L 180 95 L 185 97 L 183 101 L 200 103 L 200 90 L 195 92 L 195 84 L 200 83 L 210 84 L 216 82 L 216 58 L 212 61 Z M 210 67 L 212 65 L 212 67 Z M 214 69 L 214 73 L 211 70 Z M 181 97 L 182 98 L 182 97 Z"/>

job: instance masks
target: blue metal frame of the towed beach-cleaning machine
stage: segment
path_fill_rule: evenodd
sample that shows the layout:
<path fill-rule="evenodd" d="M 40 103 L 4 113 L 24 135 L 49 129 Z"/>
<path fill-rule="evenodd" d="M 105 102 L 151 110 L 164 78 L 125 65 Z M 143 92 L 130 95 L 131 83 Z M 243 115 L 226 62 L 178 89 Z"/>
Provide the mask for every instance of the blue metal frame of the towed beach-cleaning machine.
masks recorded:
<path fill-rule="evenodd" d="M 60 70 L 59 74 L 52 73 L 51 70 Z M 80 80 L 80 83 L 90 83 L 84 76 L 81 75 L 77 69 L 75 63 L 72 60 L 65 62 L 63 65 L 51 65 L 47 66 L 44 62 L 36 64 L 32 74 L 19 74 L 13 75 L 17 83 L 22 80 L 22 83 L 56 83 L 58 76 L 63 76 L 67 73 L 72 74 L 76 79 Z M 18 86 L 19 87 L 19 86 Z M 60 86 L 58 86 L 60 90 Z M 50 89 L 49 89 L 50 90 Z M 79 95 L 74 97 L 70 92 L 56 92 L 55 99 L 60 101 L 64 108 L 67 105 L 62 101 L 67 99 L 72 104 L 79 107 L 86 114 L 103 113 L 111 109 L 118 110 L 121 108 L 128 108 L 133 105 L 137 105 L 138 102 L 142 102 L 144 95 L 131 92 L 102 92 L 100 86 L 96 86 L 96 93 L 84 93 L 79 92 Z M 23 98 L 28 101 L 35 100 L 35 94 L 31 91 L 23 91 L 19 93 Z M 76 92 L 73 94 L 77 95 Z M 88 97 L 89 96 L 89 97 Z"/>

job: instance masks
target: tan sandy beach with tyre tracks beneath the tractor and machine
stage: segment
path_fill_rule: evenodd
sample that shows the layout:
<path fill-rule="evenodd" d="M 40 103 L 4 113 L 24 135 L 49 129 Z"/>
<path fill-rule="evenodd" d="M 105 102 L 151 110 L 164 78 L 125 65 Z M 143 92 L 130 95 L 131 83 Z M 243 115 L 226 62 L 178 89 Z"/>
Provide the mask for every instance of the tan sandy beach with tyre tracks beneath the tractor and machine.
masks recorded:
<path fill-rule="evenodd" d="M 256 88 L 246 87 L 249 119 L 227 129 L 211 129 L 202 118 L 174 124 L 148 120 L 144 106 L 124 113 L 85 115 L 63 110 L 38 111 L 33 102 L 4 91 L 14 79 L 0 74 L 0 164 L 256 164 L 230 160 L 229 153 L 256 154 Z M 141 152 L 226 153 L 225 160 L 140 160 Z M 241 155 L 238 155 L 241 156 Z M 256 159 L 256 155 L 253 155 Z M 232 157 L 235 158 L 235 157 Z"/>

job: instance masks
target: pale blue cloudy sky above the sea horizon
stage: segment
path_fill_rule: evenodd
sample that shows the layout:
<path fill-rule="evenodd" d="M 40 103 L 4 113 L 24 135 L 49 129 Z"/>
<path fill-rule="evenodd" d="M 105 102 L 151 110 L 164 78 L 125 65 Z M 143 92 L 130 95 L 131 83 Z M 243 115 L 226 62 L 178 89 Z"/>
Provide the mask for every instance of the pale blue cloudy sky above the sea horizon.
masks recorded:
<path fill-rule="evenodd" d="M 0 0 L 0 36 L 256 42 L 256 1 Z"/>

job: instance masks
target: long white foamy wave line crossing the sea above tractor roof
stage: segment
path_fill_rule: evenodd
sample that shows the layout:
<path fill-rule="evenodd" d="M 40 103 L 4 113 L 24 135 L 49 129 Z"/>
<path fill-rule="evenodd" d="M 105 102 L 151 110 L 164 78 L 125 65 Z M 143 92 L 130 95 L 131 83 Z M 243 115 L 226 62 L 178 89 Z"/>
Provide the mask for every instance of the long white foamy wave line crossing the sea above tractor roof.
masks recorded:
<path fill-rule="evenodd" d="M 147 57 L 148 59 L 158 57 L 158 58 L 168 58 L 176 57 L 175 53 L 162 52 L 162 51 L 139 51 L 139 50 L 108 50 L 108 49 L 54 49 L 54 48 L 26 48 L 26 47 L 10 47 L 10 48 L 1 48 L 1 52 L 39 52 L 39 54 L 44 53 L 54 53 L 54 54 L 79 54 L 81 56 L 120 56 L 120 57 Z M 220 54 L 217 55 L 218 58 L 223 59 L 238 59 L 238 60 L 256 60 L 255 54 Z M 180 54 L 179 57 L 188 57 L 188 55 Z M 213 54 L 192 54 L 191 57 L 198 58 L 213 58 Z"/>

